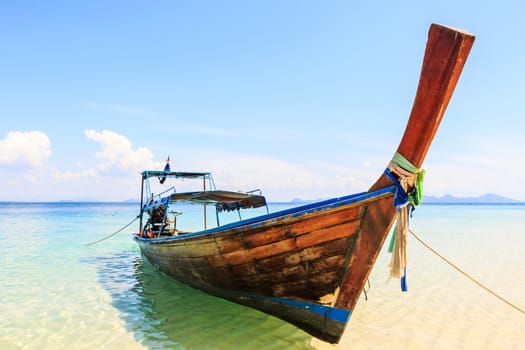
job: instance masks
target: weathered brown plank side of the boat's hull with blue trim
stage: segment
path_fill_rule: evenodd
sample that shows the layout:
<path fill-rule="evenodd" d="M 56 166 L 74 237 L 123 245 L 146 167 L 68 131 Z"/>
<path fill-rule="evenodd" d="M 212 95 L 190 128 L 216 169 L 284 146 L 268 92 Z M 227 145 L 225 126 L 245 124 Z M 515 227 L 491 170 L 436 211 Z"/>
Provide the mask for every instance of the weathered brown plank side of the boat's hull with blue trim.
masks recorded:
<path fill-rule="evenodd" d="M 349 287 L 342 281 L 367 208 L 381 201 L 392 206 L 393 192 L 388 187 L 223 229 L 136 240 L 147 260 L 175 279 L 335 343 L 352 311 L 335 303 L 339 291 Z M 357 298 L 360 287 L 350 287 Z"/>

